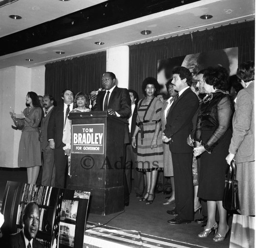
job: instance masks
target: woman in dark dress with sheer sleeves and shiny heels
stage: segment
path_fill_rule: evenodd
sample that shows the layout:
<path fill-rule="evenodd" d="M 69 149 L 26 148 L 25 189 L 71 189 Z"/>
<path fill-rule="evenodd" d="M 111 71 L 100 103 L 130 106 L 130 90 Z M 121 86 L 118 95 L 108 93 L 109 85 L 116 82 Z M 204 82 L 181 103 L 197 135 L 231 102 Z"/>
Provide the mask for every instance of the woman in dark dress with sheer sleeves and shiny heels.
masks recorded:
<path fill-rule="evenodd" d="M 229 227 L 226 210 L 222 207 L 227 163 L 225 155 L 231 139 L 229 129 L 231 102 L 225 91 L 228 73 L 223 67 L 208 68 L 203 77 L 205 93 L 195 132 L 194 155 L 201 155 L 198 197 L 207 200 L 208 220 L 201 238 L 215 231 L 214 241 L 226 238 Z M 220 214 L 219 227 L 216 222 L 216 208 Z"/>

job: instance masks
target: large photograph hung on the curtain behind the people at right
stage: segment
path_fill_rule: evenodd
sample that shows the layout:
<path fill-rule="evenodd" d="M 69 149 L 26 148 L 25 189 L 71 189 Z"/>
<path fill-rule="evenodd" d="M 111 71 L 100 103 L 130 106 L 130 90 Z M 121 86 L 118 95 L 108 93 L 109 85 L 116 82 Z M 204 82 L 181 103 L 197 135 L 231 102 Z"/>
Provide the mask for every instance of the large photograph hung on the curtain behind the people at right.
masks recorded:
<path fill-rule="evenodd" d="M 160 84 L 160 92 L 167 95 L 165 84 L 172 79 L 172 71 L 176 66 L 184 66 L 193 75 L 209 66 L 221 65 L 228 70 L 229 76 L 236 75 L 238 69 L 238 48 L 227 48 L 205 53 L 188 54 L 186 56 L 160 59 L 157 67 L 157 81 Z"/>

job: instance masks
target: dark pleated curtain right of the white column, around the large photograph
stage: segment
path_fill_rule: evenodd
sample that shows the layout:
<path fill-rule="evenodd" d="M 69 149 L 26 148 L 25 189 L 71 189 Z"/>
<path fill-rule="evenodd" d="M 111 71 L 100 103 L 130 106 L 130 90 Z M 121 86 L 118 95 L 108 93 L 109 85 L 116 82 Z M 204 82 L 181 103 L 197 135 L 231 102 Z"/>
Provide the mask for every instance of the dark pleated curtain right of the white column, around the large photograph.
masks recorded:
<path fill-rule="evenodd" d="M 254 60 L 254 21 L 130 46 L 129 88 L 143 96 L 146 77 L 157 78 L 157 61 L 187 54 L 238 47 L 239 63 Z"/>

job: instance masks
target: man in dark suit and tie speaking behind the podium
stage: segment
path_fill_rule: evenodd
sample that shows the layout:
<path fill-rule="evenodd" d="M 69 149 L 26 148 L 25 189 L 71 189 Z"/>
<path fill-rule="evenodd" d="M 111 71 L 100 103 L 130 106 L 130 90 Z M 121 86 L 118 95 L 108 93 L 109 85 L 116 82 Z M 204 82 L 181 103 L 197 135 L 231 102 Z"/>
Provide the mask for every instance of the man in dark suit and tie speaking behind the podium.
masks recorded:
<path fill-rule="evenodd" d="M 116 75 L 112 72 L 105 72 L 101 79 L 102 87 L 105 91 L 100 91 L 96 98 L 96 104 L 93 110 L 108 111 L 108 115 L 117 116 L 128 120 L 131 115 L 131 98 L 126 88 L 118 88 L 116 86 Z M 129 138 L 129 125 L 124 127 L 124 144 L 130 142 Z M 124 151 L 125 151 L 124 146 Z M 125 155 L 123 163 L 125 163 Z M 124 205 L 129 205 L 129 191 L 124 174 Z"/>

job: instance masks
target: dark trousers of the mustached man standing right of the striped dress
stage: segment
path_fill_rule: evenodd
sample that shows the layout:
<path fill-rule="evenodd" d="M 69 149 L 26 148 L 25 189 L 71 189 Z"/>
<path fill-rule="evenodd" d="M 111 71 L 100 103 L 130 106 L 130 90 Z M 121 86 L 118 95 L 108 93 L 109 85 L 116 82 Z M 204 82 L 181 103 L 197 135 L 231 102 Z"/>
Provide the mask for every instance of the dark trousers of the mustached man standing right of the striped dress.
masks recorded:
<path fill-rule="evenodd" d="M 176 211 L 185 220 L 194 220 L 192 157 L 192 153 L 172 153 Z"/>

